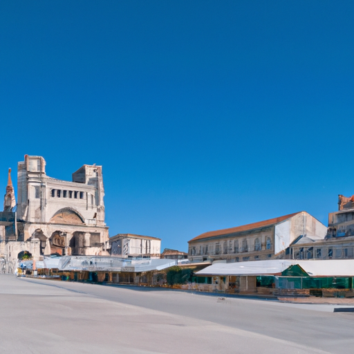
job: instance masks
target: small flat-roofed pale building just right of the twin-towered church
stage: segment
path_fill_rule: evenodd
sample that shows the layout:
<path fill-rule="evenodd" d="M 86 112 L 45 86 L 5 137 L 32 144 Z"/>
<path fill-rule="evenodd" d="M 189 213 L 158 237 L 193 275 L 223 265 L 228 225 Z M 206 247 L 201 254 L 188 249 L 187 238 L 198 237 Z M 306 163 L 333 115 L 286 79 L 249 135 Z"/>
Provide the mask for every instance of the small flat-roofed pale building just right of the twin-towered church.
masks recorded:
<path fill-rule="evenodd" d="M 161 239 L 136 234 L 117 234 L 109 239 L 111 256 L 160 258 Z"/>

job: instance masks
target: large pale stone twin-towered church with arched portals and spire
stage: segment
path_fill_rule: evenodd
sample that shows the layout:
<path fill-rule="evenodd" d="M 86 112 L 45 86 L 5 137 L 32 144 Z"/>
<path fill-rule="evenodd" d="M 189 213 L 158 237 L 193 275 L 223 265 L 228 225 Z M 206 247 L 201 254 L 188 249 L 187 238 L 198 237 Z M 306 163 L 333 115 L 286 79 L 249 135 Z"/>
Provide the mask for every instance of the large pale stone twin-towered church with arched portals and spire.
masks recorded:
<path fill-rule="evenodd" d="M 13 270 L 20 252 L 35 259 L 50 254 L 108 254 L 102 167 L 84 165 L 72 181 L 46 175 L 41 156 L 18 163 L 17 207 L 9 176 L 0 212 L 0 257 Z"/>

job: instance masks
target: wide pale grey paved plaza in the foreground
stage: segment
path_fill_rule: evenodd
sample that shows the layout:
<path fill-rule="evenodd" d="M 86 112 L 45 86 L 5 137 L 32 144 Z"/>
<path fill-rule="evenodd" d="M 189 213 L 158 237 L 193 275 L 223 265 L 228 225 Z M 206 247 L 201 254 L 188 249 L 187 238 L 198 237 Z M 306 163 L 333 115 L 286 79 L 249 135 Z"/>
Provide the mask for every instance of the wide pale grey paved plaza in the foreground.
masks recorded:
<path fill-rule="evenodd" d="M 0 275 L 1 353 L 353 353 L 336 305 Z M 348 306 L 346 306 L 348 307 Z"/>

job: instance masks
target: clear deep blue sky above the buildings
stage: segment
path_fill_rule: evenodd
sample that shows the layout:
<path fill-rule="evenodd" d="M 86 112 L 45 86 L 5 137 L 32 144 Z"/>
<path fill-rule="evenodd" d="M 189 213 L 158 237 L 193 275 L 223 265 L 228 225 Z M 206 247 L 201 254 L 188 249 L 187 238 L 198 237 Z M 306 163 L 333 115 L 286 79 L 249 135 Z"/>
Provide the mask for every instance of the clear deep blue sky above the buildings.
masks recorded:
<path fill-rule="evenodd" d="M 187 250 L 354 194 L 353 1 L 4 0 L 0 90 L 3 194 L 26 153 L 102 165 L 111 236 Z"/>

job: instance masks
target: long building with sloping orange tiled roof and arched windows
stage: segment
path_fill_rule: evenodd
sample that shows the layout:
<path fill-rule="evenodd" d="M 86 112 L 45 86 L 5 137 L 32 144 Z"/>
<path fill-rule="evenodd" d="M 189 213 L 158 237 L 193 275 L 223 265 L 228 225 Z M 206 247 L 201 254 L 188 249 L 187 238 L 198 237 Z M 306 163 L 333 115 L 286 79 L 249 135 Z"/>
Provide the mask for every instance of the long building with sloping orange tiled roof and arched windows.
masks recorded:
<path fill-rule="evenodd" d="M 193 262 L 227 262 L 290 258 L 290 245 L 301 236 L 322 240 L 327 227 L 307 212 L 297 212 L 225 230 L 205 232 L 190 240 Z"/>

